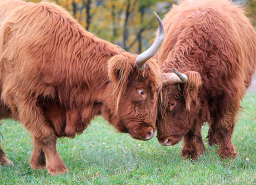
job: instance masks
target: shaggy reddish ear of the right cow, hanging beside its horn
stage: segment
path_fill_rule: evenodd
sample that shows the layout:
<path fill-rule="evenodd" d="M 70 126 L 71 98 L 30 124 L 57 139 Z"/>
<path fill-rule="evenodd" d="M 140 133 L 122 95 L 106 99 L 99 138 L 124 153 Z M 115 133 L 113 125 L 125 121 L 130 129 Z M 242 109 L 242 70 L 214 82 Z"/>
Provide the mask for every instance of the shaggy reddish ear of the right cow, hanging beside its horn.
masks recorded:
<path fill-rule="evenodd" d="M 185 72 L 188 76 L 188 81 L 184 83 L 183 96 L 186 102 L 186 109 L 190 110 L 192 101 L 196 101 L 197 92 L 202 86 L 201 76 L 197 72 Z"/>

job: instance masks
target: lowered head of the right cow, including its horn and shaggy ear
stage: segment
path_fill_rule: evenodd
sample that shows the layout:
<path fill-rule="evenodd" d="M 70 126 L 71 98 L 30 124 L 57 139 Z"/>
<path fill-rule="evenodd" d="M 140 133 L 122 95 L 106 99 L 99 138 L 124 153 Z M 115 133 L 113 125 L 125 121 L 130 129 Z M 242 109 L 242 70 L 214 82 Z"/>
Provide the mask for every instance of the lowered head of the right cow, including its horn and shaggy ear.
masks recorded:
<path fill-rule="evenodd" d="M 175 70 L 175 68 L 174 68 Z M 197 72 L 163 73 L 163 88 L 157 115 L 157 139 L 163 146 L 175 145 L 192 128 L 199 113 L 197 92 L 202 81 Z"/>

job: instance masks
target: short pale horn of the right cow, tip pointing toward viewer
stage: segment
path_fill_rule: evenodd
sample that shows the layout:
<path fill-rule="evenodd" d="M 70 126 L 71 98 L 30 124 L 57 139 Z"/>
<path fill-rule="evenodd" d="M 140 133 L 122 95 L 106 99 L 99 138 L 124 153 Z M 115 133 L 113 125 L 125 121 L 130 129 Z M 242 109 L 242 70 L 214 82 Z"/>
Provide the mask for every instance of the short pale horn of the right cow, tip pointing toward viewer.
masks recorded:
<path fill-rule="evenodd" d="M 163 81 L 168 81 L 170 84 L 185 83 L 188 80 L 188 76 L 180 73 L 173 68 L 174 73 L 162 73 Z"/>

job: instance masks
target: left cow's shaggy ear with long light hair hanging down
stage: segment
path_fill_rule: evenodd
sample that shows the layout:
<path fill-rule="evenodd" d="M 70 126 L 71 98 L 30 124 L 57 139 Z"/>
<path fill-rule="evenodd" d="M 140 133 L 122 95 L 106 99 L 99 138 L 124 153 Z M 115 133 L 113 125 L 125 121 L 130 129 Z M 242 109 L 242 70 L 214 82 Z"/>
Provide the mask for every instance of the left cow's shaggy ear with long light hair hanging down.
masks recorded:
<path fill-rule="evenodd" d="M 115 55 L 108 61 L 109 80 L 114 83 L 113 94 L 116 101 L 116 111 L 118 110 L 120 98 L 126 90 L 131 70 L 131 64 L 122 55 Z"/>

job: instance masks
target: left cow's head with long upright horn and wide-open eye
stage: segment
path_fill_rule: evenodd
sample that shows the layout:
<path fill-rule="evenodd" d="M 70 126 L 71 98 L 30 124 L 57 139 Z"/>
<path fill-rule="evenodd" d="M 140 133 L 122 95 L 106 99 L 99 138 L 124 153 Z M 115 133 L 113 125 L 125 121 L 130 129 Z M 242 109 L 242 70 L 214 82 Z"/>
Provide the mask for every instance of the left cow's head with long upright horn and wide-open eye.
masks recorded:
<path fill-rule="evenodd" d="M 154 136 L 158 94 L 162 88 L 159 65 L 150 59 L 163 41 L 163 25 L 157 18 L 159 36 L 147 51 L 137 57 L 124 54 L 109 60 L 111 96 L 102 111 L 118 131 L 144 141 Z"/>

